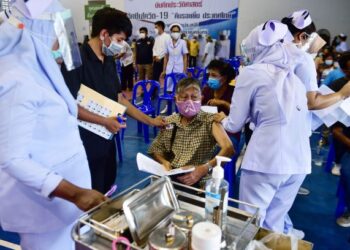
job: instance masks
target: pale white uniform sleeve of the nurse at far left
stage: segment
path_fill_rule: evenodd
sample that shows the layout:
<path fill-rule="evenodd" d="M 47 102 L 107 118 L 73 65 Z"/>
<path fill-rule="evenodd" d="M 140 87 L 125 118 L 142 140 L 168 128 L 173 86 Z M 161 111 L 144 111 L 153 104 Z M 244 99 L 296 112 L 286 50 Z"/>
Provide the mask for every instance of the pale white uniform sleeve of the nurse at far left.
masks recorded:
<path fill-rule="evenodd" d="M 4 77 L 8 79 L 1 80 L 6 84 L 0 86 L 0 171 L 49 197 L 63 178 L 32 159 L 30 151 L 34 128 L 40 122 L 37 110 L 45 105 L 42 92 L 32 84 Z"/>

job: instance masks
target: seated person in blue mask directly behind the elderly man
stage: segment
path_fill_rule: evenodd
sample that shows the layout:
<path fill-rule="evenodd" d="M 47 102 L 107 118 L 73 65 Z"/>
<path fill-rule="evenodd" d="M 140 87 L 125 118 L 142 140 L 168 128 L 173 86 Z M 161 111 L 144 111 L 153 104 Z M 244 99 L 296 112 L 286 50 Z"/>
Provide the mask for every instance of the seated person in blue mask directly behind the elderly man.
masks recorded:
<path fill-rule="evenodd" d="M 231 99 L 235 89 L 236 72 L 230 64 L 222 60 L 213 60 L 207 71 L 209 79 L 202 92 L 202 105 L 217 106 L 218 112 L 230 113 Z M 237 152 L 240 133 L 228 133 Z"/>

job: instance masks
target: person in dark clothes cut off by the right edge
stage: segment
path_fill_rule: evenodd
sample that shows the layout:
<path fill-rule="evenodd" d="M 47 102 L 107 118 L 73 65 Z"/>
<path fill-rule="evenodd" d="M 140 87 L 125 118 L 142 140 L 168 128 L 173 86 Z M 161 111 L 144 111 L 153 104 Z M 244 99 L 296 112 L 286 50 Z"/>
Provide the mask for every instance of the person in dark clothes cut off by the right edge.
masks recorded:
<path fill-rule="evenodd" d="M 339 59 L 341 70 L 345 77 L 334 81 L 329 87 L 333 91 L 339 91 L 350 80 L 350 52 L 344 53 Z M 332 129 L 334 136 L 335 149 L 341 150 L 342 165 L 340 169 L 340 181 L 345 191 L 345 204 L 347 211 L 337 219 L 337 223 L 342 227 L 350 227 L 350 127 L 337 123 Z M 336 152 L 337 154 L 337 152 Z"/>

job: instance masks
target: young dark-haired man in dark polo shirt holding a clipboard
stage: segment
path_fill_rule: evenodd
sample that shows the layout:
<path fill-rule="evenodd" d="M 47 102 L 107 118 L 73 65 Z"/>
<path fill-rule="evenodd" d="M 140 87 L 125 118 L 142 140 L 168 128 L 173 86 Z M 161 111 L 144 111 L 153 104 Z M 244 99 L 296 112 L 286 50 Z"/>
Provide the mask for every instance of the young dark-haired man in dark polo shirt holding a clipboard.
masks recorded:
<path fill-rule="evenodd" d="M 122 52 L 123 41 L 131 35 L 131 31 L 132 24 L 126 13 L 109 7 L 98 10 L 92 18 L 91 39 L 81 47 L 82 66 L 67 71 L 63 65 L 62 74 L 75 98 L 80 85 L 84 84 L 126 106 L 126 113 L 132 118 L 148 125 L 163 126 L 162 118 L 145 115 L 120 93 L 113 56 Z M 80 106 L 78 118 L 102 125 L 114 134 L 125 127 L 116 117 L 103 117 Z M 106 193 L 113 185 L 117 173 L 115 141 L 106 140 L 84 128 L 80 128 L 80 136 L 89 162 L 92 188 Z"/>

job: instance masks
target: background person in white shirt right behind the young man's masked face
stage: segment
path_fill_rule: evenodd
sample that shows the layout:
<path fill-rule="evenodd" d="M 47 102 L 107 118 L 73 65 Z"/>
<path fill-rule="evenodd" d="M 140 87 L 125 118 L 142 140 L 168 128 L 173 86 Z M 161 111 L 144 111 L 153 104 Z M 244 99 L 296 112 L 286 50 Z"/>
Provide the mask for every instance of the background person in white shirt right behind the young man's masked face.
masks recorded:
<path fill-rule="evenodd" d="M 123 48 L 120 54 L 116 56 L 116 59 L 119 59 L 122 65 L 122 90 L 128 89 L 129 91 L 132 91 L 132 88 L 134 87 L 134 57 L 132 49 L 127 42 L 123 41 Z"/>

